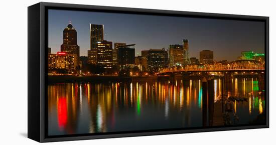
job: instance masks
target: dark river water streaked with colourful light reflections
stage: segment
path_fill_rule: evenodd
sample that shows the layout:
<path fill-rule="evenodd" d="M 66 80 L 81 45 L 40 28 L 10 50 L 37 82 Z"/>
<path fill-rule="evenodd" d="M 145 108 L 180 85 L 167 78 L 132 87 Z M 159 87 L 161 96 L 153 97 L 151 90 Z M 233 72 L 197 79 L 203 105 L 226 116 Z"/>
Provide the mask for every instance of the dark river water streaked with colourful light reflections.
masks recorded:
<path fill-rule="evenodd" d="M 233 102 L 236 124 L 247 124 L 263 112 L 264 96 L 256 78 L 231 81 L 226 90 L 214 80 L 214 103 L 223 92 L 248 98 Z M 201 127 L 202 97 L 201 80 L 49 84 L 48 134 Z"/>

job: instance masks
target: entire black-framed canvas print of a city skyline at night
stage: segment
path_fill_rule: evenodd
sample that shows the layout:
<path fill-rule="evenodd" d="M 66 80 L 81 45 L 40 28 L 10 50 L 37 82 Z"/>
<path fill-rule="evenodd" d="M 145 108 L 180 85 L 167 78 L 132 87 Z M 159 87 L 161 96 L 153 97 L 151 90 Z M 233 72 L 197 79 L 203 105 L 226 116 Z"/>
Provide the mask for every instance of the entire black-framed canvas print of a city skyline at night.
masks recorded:
<path fill-rule="evenodd" d="M 28 137 L 268 127 L 268 17 L 28 7 Z"/>

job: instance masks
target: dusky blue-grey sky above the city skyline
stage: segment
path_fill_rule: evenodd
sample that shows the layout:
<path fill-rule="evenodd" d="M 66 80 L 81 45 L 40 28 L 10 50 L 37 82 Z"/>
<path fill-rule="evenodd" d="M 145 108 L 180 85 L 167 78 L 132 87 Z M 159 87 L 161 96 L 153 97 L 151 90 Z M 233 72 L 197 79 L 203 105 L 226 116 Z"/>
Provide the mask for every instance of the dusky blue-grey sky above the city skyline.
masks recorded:
<path fill-rule="evenodd" d="M 264 53 L 264 22 L 166 17 L 134 14 L 49 10 L 48 34 L 52 53 L 60 51 L 63 30 L 71 21 L 77 31 L 80 56 L 90 49 L 89 24 L 103 24 L 107 41 L 136 44 L 141 50 L 168 49 L 189 41 L 190 57 L 214 51 L 214 60 L 236 60 L 241 51 Z"/>

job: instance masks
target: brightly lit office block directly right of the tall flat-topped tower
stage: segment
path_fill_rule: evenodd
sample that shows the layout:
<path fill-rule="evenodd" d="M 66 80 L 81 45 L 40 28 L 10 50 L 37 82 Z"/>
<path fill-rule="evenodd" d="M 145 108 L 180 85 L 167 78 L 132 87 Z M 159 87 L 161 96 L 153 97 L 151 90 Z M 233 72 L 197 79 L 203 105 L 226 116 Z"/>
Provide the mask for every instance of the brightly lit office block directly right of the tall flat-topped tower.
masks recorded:
<path fill-rule="evenodd" d="M 97 65 L 103 68 L 112 68 L 112 42 L 97 42 Z"/>

